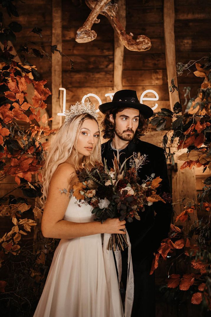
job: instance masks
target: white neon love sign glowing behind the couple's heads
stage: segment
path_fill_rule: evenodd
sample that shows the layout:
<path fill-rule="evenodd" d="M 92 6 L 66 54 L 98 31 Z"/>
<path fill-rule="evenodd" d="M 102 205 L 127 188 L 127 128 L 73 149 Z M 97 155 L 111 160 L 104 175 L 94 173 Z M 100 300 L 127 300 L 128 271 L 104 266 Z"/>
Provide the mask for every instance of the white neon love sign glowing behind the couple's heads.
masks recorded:
<path fill-rule="evenodd" d="M 60 87 L 59 90 L 63 90 L 63 112 L 62 113 L 57 113 L 58 116 L 65 116 L 65 110 L 66 110 L 66 89 L 65 88 L 62 88 Z M 152 93 L 155 95 L 155 98 L 151 97 L 151 98 L 147 98 L 147 97 L 144 97 L 145 94 L 147 93 Z M 108 94 L 105 94 L 105 97 L 110 97 L 110 99 L 112 100 L 113 99 L 113 95 L 115 93 L 108 93 Z M 99 102 L 99 106 L 102 105 L 102 101 L 100 99 L 99 96 L 97 96 L 96 94 L 92 94 L 92 93 L 89 93 L 87 95 L 84 95 L 83 98 L 82 98 L 82 102 L 84 102 L 86 100 L 86 98 L 88 97 L 94 97 L 96 98 L 96 100 Z M 148 89 L 148 90 L 145 90 L 141 97 L 140 97 L 140 102 L 143 103 L 143 100 L 150 100 L 150 101 L 156 101 L 159 99 L 159 96 L 158 94 L 156 93 L 155 90 L 152 90 L 152 89 Z M 158 107 L 158 104 L 156 103 L 154 107 L 152 107 L 152 110 L 155 110 L 156 108 Z M 100 110 L 97 109 L 96 112 L 99 112 Z"/>

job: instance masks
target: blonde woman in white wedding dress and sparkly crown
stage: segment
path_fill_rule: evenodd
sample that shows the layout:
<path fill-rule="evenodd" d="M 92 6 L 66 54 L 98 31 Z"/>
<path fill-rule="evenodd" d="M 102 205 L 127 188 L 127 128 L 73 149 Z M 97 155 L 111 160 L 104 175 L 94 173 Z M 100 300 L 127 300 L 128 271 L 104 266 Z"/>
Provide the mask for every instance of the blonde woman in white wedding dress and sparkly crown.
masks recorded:
<path fill-rule="evenodd" d="M 123 317 L 112 251 L 102 234 L 126 234 L 118 218 L 93 221 L 92 207 L 78 204 L 68 192 L 78 181 L 76 170 L 101 162 L 95 107 L 77 102 L 51 138 L 43 168 L 44 237 L 61 239 L 37 305 L 35 317 Z"/>

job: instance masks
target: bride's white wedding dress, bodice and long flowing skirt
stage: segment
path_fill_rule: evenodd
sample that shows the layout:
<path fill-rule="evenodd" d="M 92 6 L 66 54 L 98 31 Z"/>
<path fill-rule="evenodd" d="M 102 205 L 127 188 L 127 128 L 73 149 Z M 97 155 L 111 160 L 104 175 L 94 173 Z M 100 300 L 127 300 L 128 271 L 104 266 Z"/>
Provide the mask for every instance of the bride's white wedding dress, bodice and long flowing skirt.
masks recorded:
<path fill-rule="evenodd" d="M 63 219 L 91 222 L 95 218 L 91 210 L 72 196 Z M 96 234 L 60 240 L 34 317 L 124 316 L 113 252 L 106 249 L 108 239 L 109 234 Z M 118 258 L 121 252 L 117 253 Z M 130 316 L 132 299 L 127 293 Z"/>

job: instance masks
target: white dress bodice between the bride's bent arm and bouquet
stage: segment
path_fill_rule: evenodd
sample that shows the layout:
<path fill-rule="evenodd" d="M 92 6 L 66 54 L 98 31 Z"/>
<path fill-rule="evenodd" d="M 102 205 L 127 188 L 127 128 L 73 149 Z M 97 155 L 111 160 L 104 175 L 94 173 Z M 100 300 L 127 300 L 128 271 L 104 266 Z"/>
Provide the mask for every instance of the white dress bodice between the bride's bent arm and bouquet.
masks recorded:
<path fill-rule="evenodd" d="M 72 222 L 94 221 L 95 215 L 92 214 L 92 209 L 93 207 L 91 207 L 83 200 L 79 203 L 79 200 L 77 200 L 76 197 L 72 196 L 70 198 L 63 219 Z"/>

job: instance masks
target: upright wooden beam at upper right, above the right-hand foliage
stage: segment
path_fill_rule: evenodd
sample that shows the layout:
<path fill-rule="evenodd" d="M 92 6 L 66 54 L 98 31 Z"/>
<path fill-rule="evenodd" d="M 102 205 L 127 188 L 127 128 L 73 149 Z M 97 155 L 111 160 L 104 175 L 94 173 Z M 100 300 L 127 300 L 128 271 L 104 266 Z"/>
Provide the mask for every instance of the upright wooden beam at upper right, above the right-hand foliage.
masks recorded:
<path fill-rule="evenodd" d="M 163 5 L 163 24 L 164 24 L 164 46 L 166 55 L 166 69 L 168 77 L 168 87 L 171 86 L 171 80 L 174 78 L 175 86 L 177 84 L 177 74 L 176 74 L 176 53 L 175 53 L 175 7 L 174 0 L 164 0 Z M 179 92 L 174 91 L 170 93 L 170 109 L 173 111 L 174 104 L 180 101 Z"/>

